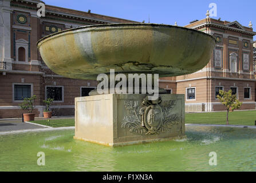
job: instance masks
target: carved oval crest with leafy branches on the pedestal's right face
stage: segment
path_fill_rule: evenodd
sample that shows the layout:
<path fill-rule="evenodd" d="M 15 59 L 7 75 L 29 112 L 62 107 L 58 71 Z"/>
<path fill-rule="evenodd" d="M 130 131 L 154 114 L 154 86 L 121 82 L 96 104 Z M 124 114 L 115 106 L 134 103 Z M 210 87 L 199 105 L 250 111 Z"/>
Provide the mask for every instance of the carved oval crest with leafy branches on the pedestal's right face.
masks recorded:
<path fill-rule="evenodd" d="M 131 133 L 159 134 L 167 132 L 173 125 L 179 124 L 178 114 L 173 114 L 175 100 L 162 101 L 148 100 L 145 97 L 142 104 L 138 101 L 125 101 L 124 107 L 128 110 L 127 116 L 121 123 L 122 128 L 129 128 Z"/>

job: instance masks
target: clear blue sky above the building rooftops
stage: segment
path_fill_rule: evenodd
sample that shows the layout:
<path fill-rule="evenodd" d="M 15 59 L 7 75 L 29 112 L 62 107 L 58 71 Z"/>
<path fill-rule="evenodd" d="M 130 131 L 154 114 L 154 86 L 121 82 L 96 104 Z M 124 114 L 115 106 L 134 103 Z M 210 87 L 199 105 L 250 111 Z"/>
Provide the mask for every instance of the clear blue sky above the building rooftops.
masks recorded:
<path fill-rule="evenodd" d="M 47 5 L 88 11 L 133 21 L 187 25 L 195 19 L 206 18 L 210 3 L 217 5 L 217 17 L 238 21 L 243 26 L 253 23 L 256 31 L 256 0 L 44 0 Z M 253 16 L 254 15 L 254 16 Z M 256 36 L 254 37 L 254 40 Z"/>

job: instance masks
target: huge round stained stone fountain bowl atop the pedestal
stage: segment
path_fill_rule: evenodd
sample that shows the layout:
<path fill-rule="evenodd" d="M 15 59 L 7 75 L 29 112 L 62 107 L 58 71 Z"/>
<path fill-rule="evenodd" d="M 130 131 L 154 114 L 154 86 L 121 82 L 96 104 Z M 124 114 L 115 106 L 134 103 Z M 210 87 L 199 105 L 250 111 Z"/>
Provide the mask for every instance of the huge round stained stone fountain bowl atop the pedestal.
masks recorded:
<path fill-rule="evenodd" d="M 38 41 L 46 65 L 59 75 L 95 79 L 100 73 L 194 73 L 210 61 L 211 35 L 152 23 L 113 23 L 77 27 Z"/>

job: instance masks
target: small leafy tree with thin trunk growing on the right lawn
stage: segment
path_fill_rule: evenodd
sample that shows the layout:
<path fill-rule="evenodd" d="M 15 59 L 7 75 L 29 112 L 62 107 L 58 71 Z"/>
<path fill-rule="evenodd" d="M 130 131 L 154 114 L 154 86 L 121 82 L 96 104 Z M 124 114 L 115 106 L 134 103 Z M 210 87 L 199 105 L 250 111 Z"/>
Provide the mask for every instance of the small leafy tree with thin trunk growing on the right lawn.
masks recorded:
<path fill-rule="evenodd" d="M 219 90 L 219 95 L 217 96 L 218 100 L 221 104 L 226 106 L 227 110 L 227 125 L 229 125 L 229 111 L 234 109 L 239 109 L 242 105 L 242 102 L 237 100 L 237 96 L 232 94 L 232 90 L 229 92 L 224 92 L 223 90 Z"/>

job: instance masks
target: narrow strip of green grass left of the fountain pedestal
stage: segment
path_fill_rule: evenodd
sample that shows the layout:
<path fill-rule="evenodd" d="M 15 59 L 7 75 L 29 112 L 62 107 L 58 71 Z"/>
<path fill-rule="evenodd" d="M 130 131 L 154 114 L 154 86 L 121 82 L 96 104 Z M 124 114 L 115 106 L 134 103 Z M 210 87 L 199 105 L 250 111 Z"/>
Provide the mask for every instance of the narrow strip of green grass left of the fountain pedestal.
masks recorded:
<path fill-rule="evenodd" d="M 62 120 L 52 120 L 50 122 L 48 120 L 37 120 L 37 121 L 30 121 L 35 124 L 51 126 L 51 127 L 66 127 L 66 126 L 74 126 L 74 119 L 62 119 Z"/>

